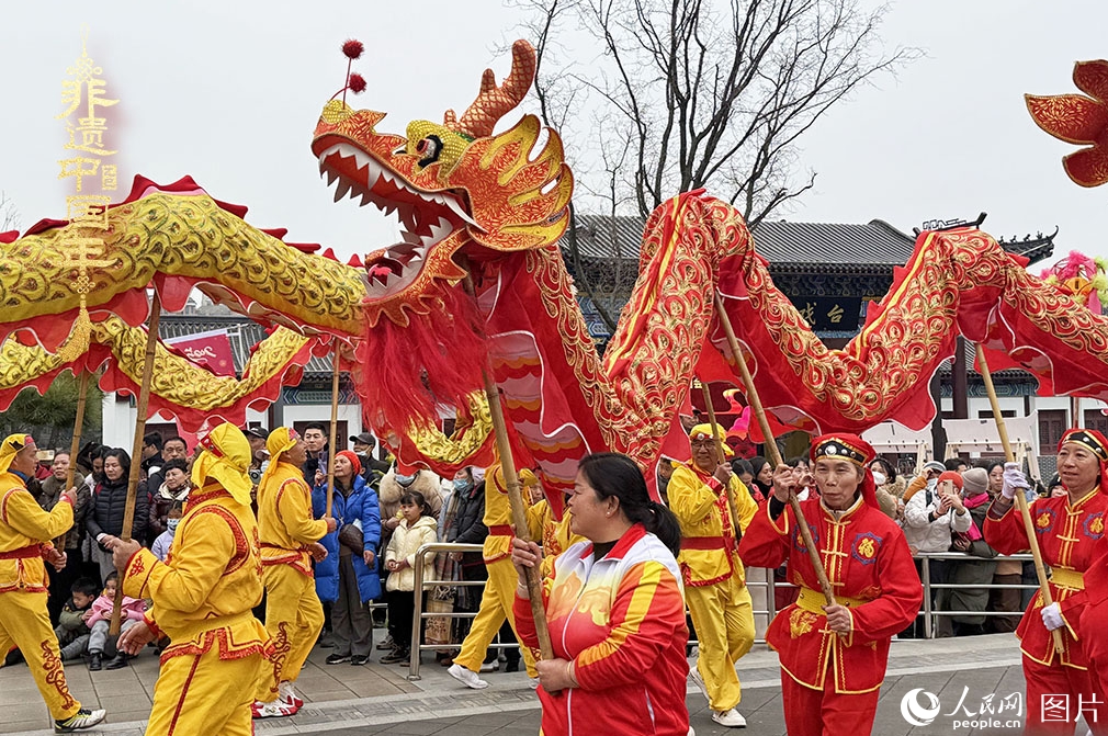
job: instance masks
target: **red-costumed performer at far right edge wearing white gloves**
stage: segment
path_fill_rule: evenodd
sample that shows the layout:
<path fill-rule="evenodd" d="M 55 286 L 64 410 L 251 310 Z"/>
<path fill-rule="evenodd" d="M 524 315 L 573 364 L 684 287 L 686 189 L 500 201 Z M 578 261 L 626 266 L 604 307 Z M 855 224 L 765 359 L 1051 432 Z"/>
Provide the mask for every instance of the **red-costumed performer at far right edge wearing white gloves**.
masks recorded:
<path fill-rule="evenodd" d="M 1096 648 L 1100 637 L 1092 635 L 1096 628 L 1088 627 L 1091 622 L 1083 615 L 1088 601 L 1085 571 L 1104 549 L 1099 540 L 1108 509 L 1106 463 L 1108 440 L 1104 435 L 1091 429 L 1067 431 L 1058 443 L 1058 474 L 1067 493 L 1037 499 L 1030 505 L 1043 563 L 1050 568 L 1055 602 L 1044 607 L 1043 595 L 1036 594 L 1016 628 L 1027 682 L 1027 734 L 1070 735 L 1079 712 L 1094 734 L 1108 734 L 1108 708 L 1102 693 L 1097 694 L 1086 654 L 1086 648 Z M 1001 554 L 1030 548 L 1024 520 L 1012 508 L 1015 494 L 1028 487 L 1016 463 L 1004 467 L 1004 485 L 988 508 L 984 529 L 985 541 Z M 1102 625 L 1102 620 L 1094 625 Z M 1060 654 L 1050 634 L 1055 628 L 1061 632 Z M 1056 706 L 1064 699 L 1068 699 L 1068 717 L 1055 719 Z"/>

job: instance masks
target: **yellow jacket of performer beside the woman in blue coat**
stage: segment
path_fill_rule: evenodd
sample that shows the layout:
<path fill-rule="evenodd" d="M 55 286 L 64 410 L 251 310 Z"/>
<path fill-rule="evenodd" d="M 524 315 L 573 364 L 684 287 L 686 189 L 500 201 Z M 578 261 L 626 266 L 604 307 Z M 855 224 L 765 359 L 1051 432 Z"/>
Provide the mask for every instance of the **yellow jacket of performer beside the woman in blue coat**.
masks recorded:
<path fill-rule="evenodd" d="M 311 577 L 308 545 L 327 534 L 327 522 L 311 517 L 311 489 L 304 474 L 296 466 L 279 462 L 258 485 L 261 564 L 288 564 Z"/>

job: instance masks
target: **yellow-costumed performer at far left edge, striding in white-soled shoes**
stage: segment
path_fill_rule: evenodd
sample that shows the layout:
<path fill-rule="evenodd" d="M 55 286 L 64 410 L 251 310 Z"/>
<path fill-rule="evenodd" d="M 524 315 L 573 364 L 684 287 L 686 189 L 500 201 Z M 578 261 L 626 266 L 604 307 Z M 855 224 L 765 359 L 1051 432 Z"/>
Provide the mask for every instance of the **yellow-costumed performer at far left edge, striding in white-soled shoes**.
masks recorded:
<path fill-rule="evenodd" d="M 68 734 L 95 726 L 104 712 L 82 708 L 70 695 L 47 613 L 43 560 L 59 570 L 64 566 L 64 554 L 50 540 L 73 525 L 76 493 L 65 491 L 50 513 L 43 511 L 27 490 L 39 463 L 37 453 L 30 435 L 11 435 L 0 446 L 0 666 L 8 651 L 18 646 L 54 719 L 54 730 Z"/>

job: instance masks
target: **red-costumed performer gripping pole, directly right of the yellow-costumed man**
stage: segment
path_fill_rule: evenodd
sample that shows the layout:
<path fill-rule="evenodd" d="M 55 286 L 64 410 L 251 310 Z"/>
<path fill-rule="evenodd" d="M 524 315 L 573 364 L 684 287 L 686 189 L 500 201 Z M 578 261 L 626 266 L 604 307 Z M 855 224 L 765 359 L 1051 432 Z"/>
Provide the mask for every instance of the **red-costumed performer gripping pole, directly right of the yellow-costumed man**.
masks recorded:
<path fill-rule="evenodd" d="M 835 594 L 825 605 L 792 509 L 790 489 L 810 479 L 779 466 L 773 495 L 739 544 L 748 565 L 788 562 L 797 602 L 770 623 L 766 641 L 781 660 L 784 725 L 790 736 L 869 734 L 885 676 L 889 642 L 915 619 L 923 600 L 900 528 L 878 507 L 869 466 L 873 448 L 855 435 L 812 442 L 820 498 L 801 502 Z"/>

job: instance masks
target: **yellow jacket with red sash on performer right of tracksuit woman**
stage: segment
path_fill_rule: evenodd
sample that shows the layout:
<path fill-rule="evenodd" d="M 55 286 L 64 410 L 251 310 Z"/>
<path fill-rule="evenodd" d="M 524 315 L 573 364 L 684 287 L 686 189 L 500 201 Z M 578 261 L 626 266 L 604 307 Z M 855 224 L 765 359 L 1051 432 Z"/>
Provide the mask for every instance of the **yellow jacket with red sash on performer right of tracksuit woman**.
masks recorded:
<path fill-rule="evenodd" d="M 667 488 L 669 508 L 681 527 L 681 551 L 677 555 L 686 585 L 711 585 L 738 575 L 746 583 L 746 570 L 739 560 L 738 540 L 731 510 L 722 483 L 693 466 L 678 464 Z M 750 491 L 736 476 L 727 489 L 739 515 L 739 529 L 746 530 L 758 511 Z"/>

